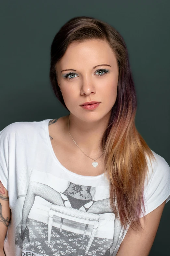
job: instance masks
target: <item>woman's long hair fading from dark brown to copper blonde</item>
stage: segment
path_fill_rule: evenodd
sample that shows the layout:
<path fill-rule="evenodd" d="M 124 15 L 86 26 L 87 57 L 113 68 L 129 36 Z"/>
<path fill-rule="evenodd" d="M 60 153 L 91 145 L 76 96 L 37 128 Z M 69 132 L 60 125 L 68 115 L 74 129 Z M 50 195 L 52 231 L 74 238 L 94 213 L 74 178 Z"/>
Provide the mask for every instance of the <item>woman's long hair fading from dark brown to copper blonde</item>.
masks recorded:
<path fill-rule="evenodd" d="M 106 40 L 119 66 L 117 98 L 102 138 L 104 172 L 110 184 L 110 204 L 115 217 L 119 218 L 125 229 L 132 224 L 132 228 L 139 230 L 142 228 L 142 207 L 146 213 L 144 185 L 149 172 L 147 157 L 150 162 L 155 157 L 135 127 L 137 99 L 127 47 L 120 33 L 93 17 L 70 19 L 61 27 L 51 44 L 50 82 L 55 95 L 67 109 L 57 83 L 55 65 L 70 43 L 90 39 Z M 117 200 L 113 200 L 115 198 Z"/>

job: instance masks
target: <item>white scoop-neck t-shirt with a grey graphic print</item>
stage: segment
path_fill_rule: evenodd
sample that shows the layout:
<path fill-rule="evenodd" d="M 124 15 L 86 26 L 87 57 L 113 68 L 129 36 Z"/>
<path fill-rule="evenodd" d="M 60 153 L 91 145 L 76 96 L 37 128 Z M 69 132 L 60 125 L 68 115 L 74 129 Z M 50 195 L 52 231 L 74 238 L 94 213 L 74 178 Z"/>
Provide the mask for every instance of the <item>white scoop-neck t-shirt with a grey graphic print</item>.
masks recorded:
<path fill-rule="evenodd" d="M 0 180 L 12 212 L 5 253 L 100 256 L 110 250 L 116 255 L 128 229 L 109 208 L 108 180 L 104 173 L 78 175 L 58 161 L 49 136 L 50 120 L 15 122 L 0 131 Z M 153 174 L 149 164 L 151 176 L 144 190 L 147 214 L 170 199 L 170 167 L 153 154 L 156 162 Z"/>

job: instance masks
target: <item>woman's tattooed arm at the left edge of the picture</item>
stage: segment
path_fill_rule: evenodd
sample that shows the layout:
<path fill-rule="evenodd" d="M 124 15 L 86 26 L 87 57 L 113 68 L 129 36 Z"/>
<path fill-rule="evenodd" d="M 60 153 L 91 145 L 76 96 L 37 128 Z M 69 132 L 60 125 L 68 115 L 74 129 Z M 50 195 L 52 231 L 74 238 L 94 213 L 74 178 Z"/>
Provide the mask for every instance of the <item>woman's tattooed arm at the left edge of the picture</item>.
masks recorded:
<path fill-rule="evenodd" d="M 8 192 L 0 181 L 0 256 L 4 256 L 4 240 L 10 219 L 11 210 L 9 208 Z"/>

